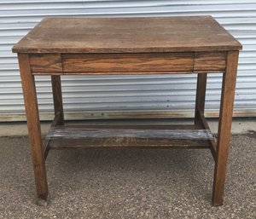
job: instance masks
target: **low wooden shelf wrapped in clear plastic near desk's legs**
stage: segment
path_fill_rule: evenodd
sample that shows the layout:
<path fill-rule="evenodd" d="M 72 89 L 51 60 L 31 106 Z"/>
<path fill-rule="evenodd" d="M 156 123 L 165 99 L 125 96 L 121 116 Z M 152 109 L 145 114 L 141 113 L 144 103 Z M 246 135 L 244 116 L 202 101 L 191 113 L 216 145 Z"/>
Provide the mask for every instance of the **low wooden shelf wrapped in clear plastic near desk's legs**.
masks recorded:
<path fill-rule="evenodd" d="M 154 129 L 153 129 L 154 128 Z M 55 126 L 46 136 L 48 149 L 64 148 L 209 148 L 210 130 L 178 127 Z"/>

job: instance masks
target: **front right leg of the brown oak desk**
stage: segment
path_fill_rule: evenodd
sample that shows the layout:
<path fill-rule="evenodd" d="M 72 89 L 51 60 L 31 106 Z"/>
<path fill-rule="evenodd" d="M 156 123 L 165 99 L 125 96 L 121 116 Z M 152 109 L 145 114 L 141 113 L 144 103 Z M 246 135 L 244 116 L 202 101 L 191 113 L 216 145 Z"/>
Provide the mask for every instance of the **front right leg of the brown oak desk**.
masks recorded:
<path fill-rule="evenodd" d="M 227 66 L 223 76 L 222 94 L 218 121 L 218 141 L 215 159 L 212 204 L 223 204 L 224 183 L 228 153 L 230 149 L 230 130 L 232 124 L 233 105 L 236 89 L 236 70 L 238 51 L 230 51 L 227 55 Z"/>

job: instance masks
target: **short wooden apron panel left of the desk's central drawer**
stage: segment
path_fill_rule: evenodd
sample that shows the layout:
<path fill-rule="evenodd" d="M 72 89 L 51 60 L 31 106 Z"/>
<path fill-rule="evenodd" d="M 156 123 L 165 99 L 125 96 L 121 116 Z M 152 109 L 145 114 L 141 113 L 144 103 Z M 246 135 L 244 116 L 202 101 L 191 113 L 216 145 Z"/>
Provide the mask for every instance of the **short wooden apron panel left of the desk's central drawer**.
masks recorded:
<path fill-rule="evenodd" d="M 62 72 L 61 54 L 32 54 L 29 61 L 32 72 Z"/>

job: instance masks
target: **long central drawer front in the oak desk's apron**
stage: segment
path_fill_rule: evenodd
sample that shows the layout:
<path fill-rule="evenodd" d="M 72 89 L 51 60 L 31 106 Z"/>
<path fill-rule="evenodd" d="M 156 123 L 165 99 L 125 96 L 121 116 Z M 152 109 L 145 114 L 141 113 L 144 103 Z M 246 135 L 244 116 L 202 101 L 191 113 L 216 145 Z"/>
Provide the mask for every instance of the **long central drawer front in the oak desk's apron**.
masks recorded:
<path fill-rule="evenodd" d="M 193 53 L 67 54 L 63 72 L 192 72 Z"/>

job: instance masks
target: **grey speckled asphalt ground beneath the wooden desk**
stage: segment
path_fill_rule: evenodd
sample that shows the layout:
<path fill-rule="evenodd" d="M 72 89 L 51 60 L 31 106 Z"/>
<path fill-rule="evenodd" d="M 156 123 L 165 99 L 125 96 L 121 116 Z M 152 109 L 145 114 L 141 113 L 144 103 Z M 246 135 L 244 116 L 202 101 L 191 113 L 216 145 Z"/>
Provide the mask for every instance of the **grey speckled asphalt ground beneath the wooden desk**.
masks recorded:
<path fill-rule="evenodd" d="M 26 136 L 0 137 L 0 218 L 256 218 L 256 133 L 232 135 L 224 205 L 208 150 L 50 151 L 38 206 Z"/>

